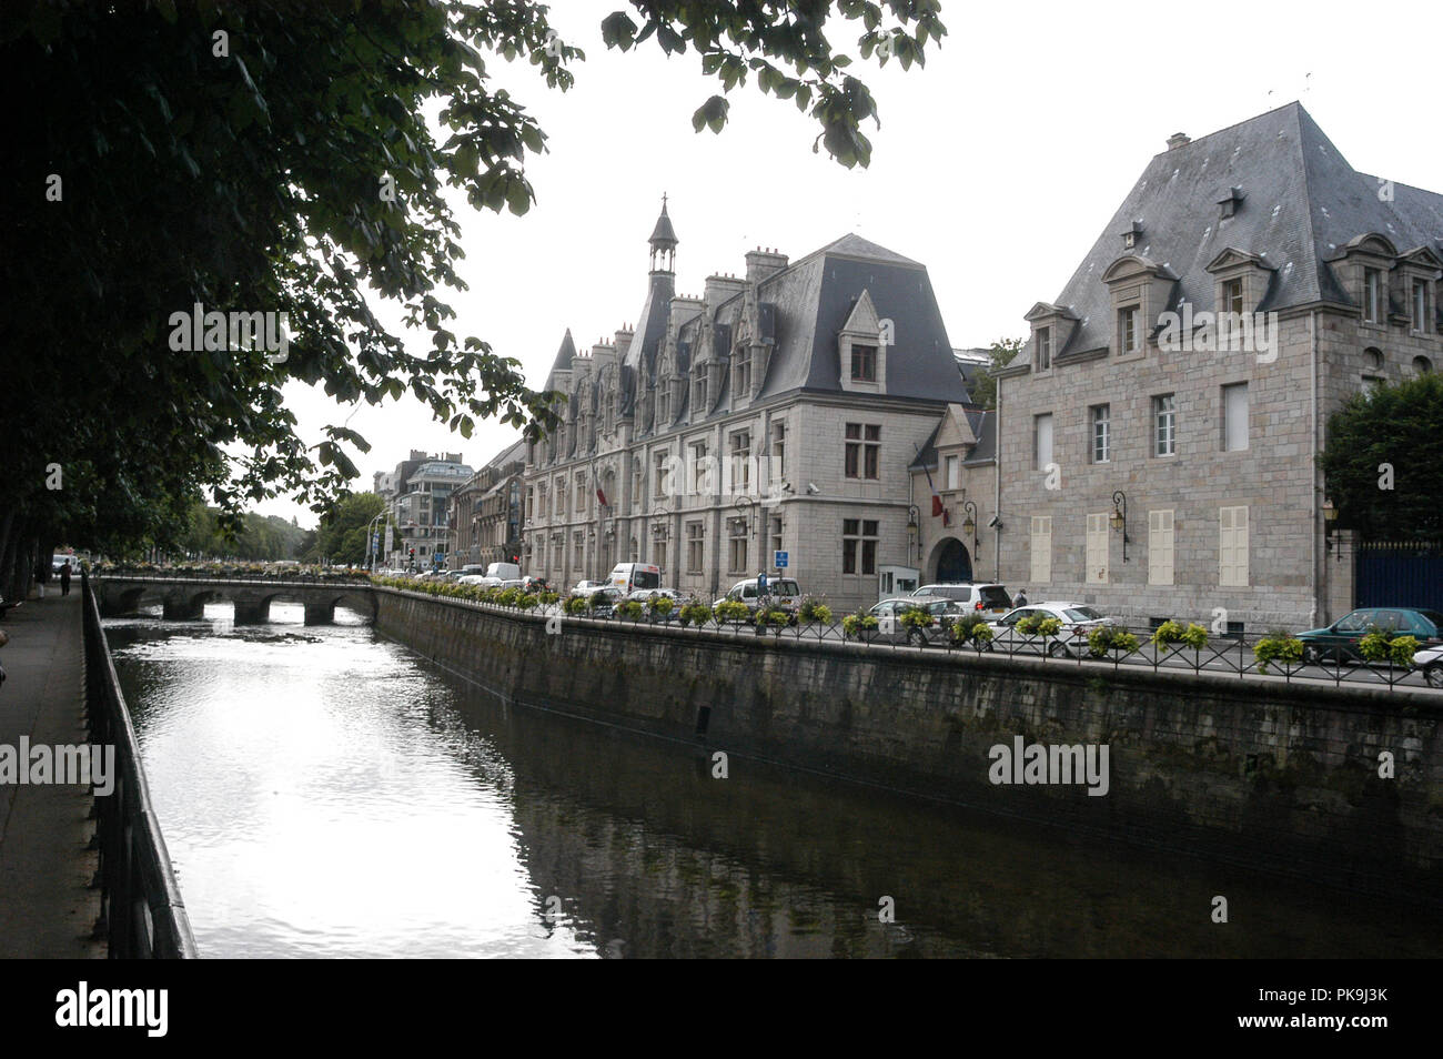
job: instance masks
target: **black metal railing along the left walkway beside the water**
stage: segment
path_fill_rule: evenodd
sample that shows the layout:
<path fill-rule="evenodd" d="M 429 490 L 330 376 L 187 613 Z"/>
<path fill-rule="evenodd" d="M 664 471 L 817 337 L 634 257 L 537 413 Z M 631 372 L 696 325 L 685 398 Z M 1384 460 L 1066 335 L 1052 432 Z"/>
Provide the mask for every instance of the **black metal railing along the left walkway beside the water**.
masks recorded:
<path fill-rule="evenodd" d="M 89 740 L 115 747 L 115 786 L 95 798 L 101 890 L 97 936 L 111 959 L 188 959 L 198 955 L 160 822 L 150 805 L 140 746 L 120 691 L 89 577 L 81 574 L 85 607 L 85 706 Z"/>

